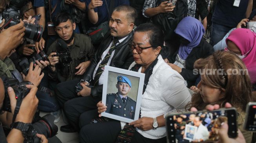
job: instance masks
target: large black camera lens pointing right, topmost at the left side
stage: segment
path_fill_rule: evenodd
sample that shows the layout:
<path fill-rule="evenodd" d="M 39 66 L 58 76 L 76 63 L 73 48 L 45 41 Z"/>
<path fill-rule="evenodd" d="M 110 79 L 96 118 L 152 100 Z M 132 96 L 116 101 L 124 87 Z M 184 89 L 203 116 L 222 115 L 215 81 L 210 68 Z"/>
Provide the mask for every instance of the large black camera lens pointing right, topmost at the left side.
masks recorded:
<path fill-rule="evenodd" d="M 39 42 L 43 35 L 43 26 L 34 25 L 31 23 L 25 23 L 25 38 L 32 39 L 33 41 Z"/>

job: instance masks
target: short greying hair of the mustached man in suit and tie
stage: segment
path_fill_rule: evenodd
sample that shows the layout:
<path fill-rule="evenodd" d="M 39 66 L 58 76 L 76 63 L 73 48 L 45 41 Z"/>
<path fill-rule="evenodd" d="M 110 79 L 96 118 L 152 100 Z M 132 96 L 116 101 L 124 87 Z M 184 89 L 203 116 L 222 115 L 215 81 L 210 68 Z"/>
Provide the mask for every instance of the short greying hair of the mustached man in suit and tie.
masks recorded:
<path fill-rule="evenodd" d="M 131 23 L 135 22 L 135 19 L 137 18 L 137 11 L 136 9 L 134 9 L 133 7 L 129 6 L 129 5 L 120 5 L 116 8 L 114 8 L 114 11 L 124 11 L 125 13 L 127 13 L 126 18 L 128 21 L 130 21 Z"/>

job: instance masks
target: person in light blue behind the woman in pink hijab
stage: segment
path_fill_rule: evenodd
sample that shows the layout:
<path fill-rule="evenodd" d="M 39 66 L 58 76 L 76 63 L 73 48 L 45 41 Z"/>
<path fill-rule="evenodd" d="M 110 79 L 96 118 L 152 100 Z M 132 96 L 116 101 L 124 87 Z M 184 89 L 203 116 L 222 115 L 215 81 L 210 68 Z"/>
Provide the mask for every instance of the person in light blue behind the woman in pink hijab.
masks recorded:
<path fill-rule="evenodd" d="M 223 50 L 227 46 L 226 39 L 227 39 L 227 37 L 229 37 L 229 34 L 233 30 L 238 29 L 238 28 L 243 28 L 243 27 L 256 32 L 256 9 L 254 9 L 252 11 L 252 13 L 251 13 L 251 15 L 250 15 L 250 17 L 248 19 L 247 18 L 242 19 L 238 23 L 236 28 L 231 29 L 220 42 L 218 42 L 216 45 L 214 45 L 213 46 L 214 51 Z"/>

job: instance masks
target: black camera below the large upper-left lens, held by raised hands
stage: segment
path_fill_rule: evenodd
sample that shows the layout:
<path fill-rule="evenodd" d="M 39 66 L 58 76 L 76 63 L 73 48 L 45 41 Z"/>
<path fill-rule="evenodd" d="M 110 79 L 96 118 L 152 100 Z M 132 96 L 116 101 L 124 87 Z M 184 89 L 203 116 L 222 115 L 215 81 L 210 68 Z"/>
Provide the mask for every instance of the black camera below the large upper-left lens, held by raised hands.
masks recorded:
<path fill-rule="evenodd" d="M 19 66 L 22 70 L 22 73 L 24 73 L 24 75 L 27 75 L 28 71 L 29 71 L 29 65 L 31 62 L 33 62 L 34 64 L 36 64 L 36 61 L 49 61 L 48 60 L 48 56 L 45 54 L 44 51 L 40 51 L 38 54 L 34 54 L 29 60 L 27 58 L 22 58 L 19 60 Z"/>

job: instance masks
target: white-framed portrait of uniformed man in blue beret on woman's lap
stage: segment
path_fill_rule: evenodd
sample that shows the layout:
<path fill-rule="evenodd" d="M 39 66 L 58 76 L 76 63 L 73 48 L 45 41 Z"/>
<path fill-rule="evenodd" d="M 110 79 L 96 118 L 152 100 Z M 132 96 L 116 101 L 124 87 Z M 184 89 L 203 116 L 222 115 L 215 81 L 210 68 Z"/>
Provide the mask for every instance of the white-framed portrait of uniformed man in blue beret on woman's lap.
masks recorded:
<path fill-rule="evenodd" d="M 127 123 L 138 120 L 144 77 L 144 73 L 105 66 L 102 103 L 107 111 L 102 116 Z"/>

